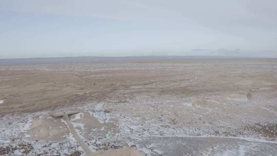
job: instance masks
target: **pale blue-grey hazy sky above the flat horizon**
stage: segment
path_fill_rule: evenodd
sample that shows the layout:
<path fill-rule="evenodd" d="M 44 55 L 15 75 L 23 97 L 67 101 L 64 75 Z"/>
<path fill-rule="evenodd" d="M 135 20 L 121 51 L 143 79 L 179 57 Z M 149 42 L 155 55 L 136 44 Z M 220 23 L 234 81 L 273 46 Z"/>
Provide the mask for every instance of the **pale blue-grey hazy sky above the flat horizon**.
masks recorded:
<path fill-rule="evenodd" d="M 277 57 L 276 0 L 0 0 L 0 59 Z"/>

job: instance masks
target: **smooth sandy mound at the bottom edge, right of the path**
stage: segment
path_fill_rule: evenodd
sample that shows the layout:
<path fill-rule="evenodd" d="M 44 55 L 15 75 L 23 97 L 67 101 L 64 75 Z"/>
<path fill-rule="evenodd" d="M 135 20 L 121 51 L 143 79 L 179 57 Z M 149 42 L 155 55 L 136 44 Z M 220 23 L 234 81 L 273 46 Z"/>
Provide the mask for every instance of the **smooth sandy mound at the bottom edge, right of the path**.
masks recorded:
<path fill-rule="evenodd" d="M 100 150 L 96 151 L 93 156 L 142 156 L 143 154 L 132 148 L 132 147 L 124 147 L 118 149 L 109 149 L 109 150 Z"/>

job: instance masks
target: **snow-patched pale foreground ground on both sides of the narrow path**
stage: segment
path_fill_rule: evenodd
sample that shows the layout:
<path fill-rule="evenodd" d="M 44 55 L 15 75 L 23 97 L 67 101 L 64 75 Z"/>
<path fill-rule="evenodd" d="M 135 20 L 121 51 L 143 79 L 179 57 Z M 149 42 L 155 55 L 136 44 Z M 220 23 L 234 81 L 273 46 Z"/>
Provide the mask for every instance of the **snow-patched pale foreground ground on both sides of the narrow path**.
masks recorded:
<path fill-rule="evenodd" d="M 231 97 L 226 97 L 230 95 Z M 84 110 L 71 116 L 70 121 L 84 142 L 92 151 L 100 149 L 134 146 L 147 155 L 274 155 L 277 153 L 276 127 L 272 135 L 263 127 L 242 129 L 247 123 L 271 124 L 276 122 L 276 113 L 269 104 L 276 99 L 268 99 L 265 105 L 256 104 L 252 99 L 234 101 L 233 94 L 206 96 L 203 99 L 170 99 L 160 97 L 149 99 L 137 96 L 127 103 L 88 103 L 79 107 Z M 241 95 L 240 95 L 241 96 Z M 224 98 L 223 98 L 224 97 Z M 164 101 L 164 103 L 163 103 Z M 200 102 L 199 102 L 200 101 Z M 200 104 L 205 102 L 205 104 Z M 234 103 L 236 102 L 236 103 Z M 211 105 L 213 108 L 211 108 Z M 244 107 L 242 107 L 244 105 Z M 216 106 L 216 107 L 215 107 Z M 238 109 L 235 109 L 239 107 Z M 248 108 L 246 113 L 239 110 Z M 255 114 L 256 109 L 267 111 L 266 116 Z M 230 112 L 235 109 L 236 112 Z M 230 112 L 230 114 L 226 113 Z M 228 120 L 226 120 L 228 118 Z M 32 114 L 5 115 L 1 121 L 2 146 L 17 146 L 10 155 L 26 152 L 20 148 L 22 142 L 30 144 L 33 149 L 28 154 L 84 152 L 70 133 L 65 133 L 61 140 L 35 140 L 32 138 L 32 123 L 37 119 L 52 119 L 47 111 Z M 61 120 L 63 119 L 53 119 Z M 54 124 L 49 125 L 54 129 Z M 61 125 L 62 126 L 62 125 Z M 270 124 L 268 125 L 270 127 Z M 50 135 L 57 135 L 49 129 Z"/>

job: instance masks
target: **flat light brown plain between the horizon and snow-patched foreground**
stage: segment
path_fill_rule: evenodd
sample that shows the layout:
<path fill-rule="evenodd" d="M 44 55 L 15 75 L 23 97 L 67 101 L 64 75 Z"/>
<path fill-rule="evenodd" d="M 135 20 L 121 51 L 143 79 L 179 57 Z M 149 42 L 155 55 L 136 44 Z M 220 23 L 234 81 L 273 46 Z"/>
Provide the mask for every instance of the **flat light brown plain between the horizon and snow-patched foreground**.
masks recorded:
<path fill-rule="evenodd" d="M 136 94 L 180 97 L 275 91 L 276 70 L 262 65 L 274 67 L 276 62 L 198 60 L 0 66 L 0 99 L 5 100 L 0 110 L 38 111 L 88 102 L 124 102 Z M 266 87 L 269 90 L 261 89 Z"/>

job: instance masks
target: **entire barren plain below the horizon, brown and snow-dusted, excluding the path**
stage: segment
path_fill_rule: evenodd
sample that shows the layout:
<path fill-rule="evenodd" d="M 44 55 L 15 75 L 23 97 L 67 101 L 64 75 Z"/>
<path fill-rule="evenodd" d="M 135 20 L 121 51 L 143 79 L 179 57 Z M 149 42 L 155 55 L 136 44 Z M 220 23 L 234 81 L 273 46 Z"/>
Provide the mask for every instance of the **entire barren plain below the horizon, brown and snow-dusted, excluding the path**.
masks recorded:
<path fill-rule="evenodd" d="M 277 60 L 0 66 L 0 155 L 276 155 Z"/>

